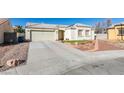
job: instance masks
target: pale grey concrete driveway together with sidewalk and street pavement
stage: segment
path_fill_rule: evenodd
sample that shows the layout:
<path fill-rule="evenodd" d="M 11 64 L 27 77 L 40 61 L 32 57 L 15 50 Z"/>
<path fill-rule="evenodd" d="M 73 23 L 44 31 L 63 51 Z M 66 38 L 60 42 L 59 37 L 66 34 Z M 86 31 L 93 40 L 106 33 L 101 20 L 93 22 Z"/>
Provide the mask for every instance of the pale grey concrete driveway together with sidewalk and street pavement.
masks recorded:
<path fill-rule="evenodd" d="M 87 75 L 124 74 L 124 51 L 86 52 L 59 42 L 31 42 L 27 64 L 0 74 Z"/>

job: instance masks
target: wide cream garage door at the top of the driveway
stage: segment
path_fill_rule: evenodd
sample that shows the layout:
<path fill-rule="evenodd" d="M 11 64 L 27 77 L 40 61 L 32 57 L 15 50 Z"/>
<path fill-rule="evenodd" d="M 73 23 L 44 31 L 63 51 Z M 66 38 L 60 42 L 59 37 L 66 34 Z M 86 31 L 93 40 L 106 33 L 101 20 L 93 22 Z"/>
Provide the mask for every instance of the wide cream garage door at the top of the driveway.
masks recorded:
<path fill-rule="evenodd" d="M 55 32 L 53 31 L 32 31 L 32 41 L 55 40 Z"/>

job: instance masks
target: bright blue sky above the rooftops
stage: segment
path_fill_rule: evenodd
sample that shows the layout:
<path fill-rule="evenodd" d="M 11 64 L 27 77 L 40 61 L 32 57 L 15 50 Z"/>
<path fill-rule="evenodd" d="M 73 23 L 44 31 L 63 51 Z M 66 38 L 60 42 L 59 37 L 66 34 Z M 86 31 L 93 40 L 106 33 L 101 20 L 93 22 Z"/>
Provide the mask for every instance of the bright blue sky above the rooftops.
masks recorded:
<path fill-rule="evenodd" d="M 106 20 L 106 18 L 10 18 L 12 25 L 25 26 L 27 22 L 48 23 L 48 24 L 74 24 L 83 23 L 94 25 L 97 22 Z M 124 18 L 112 18 L 112 23 L 124 22 Z"/>

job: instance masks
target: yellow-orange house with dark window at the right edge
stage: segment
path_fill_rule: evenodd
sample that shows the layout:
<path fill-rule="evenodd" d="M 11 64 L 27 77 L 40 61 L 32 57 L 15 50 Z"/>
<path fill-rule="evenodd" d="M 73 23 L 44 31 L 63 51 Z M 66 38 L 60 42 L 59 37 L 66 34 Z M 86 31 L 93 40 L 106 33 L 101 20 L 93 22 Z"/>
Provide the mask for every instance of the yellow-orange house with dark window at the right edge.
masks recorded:
<path fill-rule="evenodd" d="M 117 23 L 107 29 L 108 40 L 124 40 L 124 23 Z"/>

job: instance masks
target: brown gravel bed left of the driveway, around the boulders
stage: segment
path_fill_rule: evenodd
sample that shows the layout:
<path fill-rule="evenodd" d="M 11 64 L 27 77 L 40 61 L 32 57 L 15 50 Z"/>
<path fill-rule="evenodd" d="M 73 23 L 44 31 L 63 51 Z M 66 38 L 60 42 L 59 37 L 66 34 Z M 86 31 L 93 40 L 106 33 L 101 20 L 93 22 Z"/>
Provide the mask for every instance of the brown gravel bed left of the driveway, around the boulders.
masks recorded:
<path fill-rule="evenodd" d="M 15 45 L 0 45 L 0 71 L 9 69 L 6 62 L 11 59 L 27 60 L 29 43 L 20 43 Z"/>

